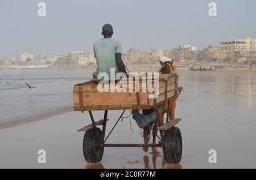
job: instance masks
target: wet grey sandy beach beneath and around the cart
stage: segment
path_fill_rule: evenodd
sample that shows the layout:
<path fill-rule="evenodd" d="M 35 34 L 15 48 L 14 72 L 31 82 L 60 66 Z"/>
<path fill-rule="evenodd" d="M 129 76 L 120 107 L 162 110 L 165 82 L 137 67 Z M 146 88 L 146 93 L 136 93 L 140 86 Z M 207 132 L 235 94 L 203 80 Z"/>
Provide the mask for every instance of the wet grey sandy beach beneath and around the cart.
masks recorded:
<path fill-rule="evenodd" d="M 87 164 L 82 155 L 89 114 L 69 112 L 42 121 L 0 130 L 0 168 L 256 168 L 256 74 L 214 72 L 180 73 L 184 87 L 176 106 L 183 136 L 179 165 L 168 166 L 142 148 L 105 148 L 101 164 Z M 126 113 L 128 115 L 129 112 Z M 103 113 L 93 112 L 95 119 Z M 109 112 L 107 132 L 120 111 Z M 108 143 L 142 143 L 135 121 L 123 119 Z M 47 153 L 39 164 L 38 150 Z M 208 152 L 217 151 L 217 164 L 209 164 Z M 159 151 L 161 149 L 159 148 Z M 128 161 L 140 161 L 129 164 Z"/>

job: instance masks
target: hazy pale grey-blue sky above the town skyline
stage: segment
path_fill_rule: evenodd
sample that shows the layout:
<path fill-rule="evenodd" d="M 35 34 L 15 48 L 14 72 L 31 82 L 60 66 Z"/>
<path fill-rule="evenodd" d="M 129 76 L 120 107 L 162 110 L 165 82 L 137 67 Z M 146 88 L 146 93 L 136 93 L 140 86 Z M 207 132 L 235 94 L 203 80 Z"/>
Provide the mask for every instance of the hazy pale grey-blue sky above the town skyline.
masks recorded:
<path fill-rule="evenodd" d="M 39 2 L 46 17 L 38 16 Z M 216 17 L 208 15 L 210 2 L 217 3 Z M 0 55 L 92 52 L 105 23 L 123 50 L 217 46 L 221 39 L 256 38 L 255 7 L 255 0 L 0 0 Z"/>

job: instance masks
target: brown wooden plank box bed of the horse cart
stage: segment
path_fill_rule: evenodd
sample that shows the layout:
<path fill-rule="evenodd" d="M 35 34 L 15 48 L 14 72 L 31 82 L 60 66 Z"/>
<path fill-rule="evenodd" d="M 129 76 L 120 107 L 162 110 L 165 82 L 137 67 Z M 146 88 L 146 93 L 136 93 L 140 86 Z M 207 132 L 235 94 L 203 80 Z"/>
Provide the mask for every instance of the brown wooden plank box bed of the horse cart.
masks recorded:
<path fill-rule="evenodd" d="M 134 79 L 129 79 L 133 80 Z M 138 92 L 98 92 L 97 85 L 101 80 L 90 80 L 90 82 L 76 84 L 73 87 L 73 105 L 75 111 L 85 110 L 125 110 L 125 109 L 150 109 L 175 96 L 177 89 L 177 76 L 172 74 L 159 75 L 159 95 L 157 98 L 148 98 L 152 93 L 143 92 L 147 83 L 140 79 Z M 134 83 L 134 82 L 133 82 Z M 154 80 L 152 80 L 154 87 Z M 105 84 L 112 88 L 112 84 Z M 115 86 L 116 87 L 116 86 Z M 128 85 L 122 85 L 123 89 Z"/>

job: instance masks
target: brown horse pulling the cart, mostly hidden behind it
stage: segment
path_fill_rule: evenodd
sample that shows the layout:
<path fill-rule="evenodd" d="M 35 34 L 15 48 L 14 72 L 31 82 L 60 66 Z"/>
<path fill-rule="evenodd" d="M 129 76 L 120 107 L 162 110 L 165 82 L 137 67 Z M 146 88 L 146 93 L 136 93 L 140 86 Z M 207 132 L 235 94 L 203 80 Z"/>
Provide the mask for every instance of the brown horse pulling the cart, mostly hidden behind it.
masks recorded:
<path fill-rule="evenodd" d="M 175 74 L 177 73 L 176 67 L 174 66 L 174 61 L 166 61 L 162 62 L 160 61 L 160 65 L 162 68 L 160 69 L 161 74 Z M 181 91 L 181 89 L 178 89 L 178 92 Z M 177 98 L 177 97 L 176 97 Z M 160 110 L 159 113 L 156 112 L 158 110 L 157 108 L 152 108 L 148 110 L 143 110 L 143 114 L 150 114 L 152 112 L 156 112 L 156 119 L 159 119 L 159 122 L 156 121 L 156 123 L 151 123 L 151 127 L 154 124 L 153 131 L 157 132 L 158 127 L 162 126 L 164 124 L 164 114 L 167 114 L 166 122 L 169 121 L 169 119 L 174 119 L 174 111 L 175 111 L 175 106 L 176 106 L 176 98 L 173 98 L 172 100 L 166 101 L 164 103 L 164 107 Z M 170 109 L 170 110 L 169 110 Z M 146 126 L 143 128 L 143 137 L 144 137 L 144 144 L 148 144 L 148 139 L 150 139 L 150 130 L 151 128 Z M 160 131 L 160 136 L 163 139 L 163 131 Z M 156 143 L 156 133 L 153 133 L 153 144 Z M 145 146 L 143 147 L 143 151 L 147 152 L 148 148 Z M 153 153 L 158 153 L 156 148 L 152 148 Z"/>

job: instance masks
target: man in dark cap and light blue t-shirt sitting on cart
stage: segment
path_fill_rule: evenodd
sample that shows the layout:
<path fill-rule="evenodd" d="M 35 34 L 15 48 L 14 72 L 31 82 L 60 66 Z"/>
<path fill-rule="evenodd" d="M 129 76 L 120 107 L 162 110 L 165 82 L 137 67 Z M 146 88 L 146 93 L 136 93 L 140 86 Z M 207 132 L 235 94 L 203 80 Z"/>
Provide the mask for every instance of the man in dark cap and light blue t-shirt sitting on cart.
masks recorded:
<path fill-rule="evenodd" d="M 112 38 L 113 27 L 110 24 L 105 24 L 102 27 L 102 38 L 93 45 L 94 57 L 97 61 L 96 72 L 93 73 L 93 78 L 97 79 L 100 72 L 106 72 L 110 78 L 110 68 L 115 68 L 117 72 L 126 73 L 126 66 L 122 61 L 122 45 L 118 40 Z"/>

